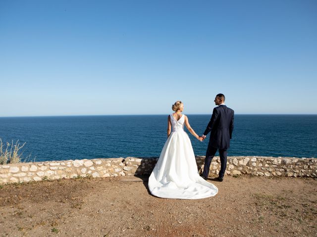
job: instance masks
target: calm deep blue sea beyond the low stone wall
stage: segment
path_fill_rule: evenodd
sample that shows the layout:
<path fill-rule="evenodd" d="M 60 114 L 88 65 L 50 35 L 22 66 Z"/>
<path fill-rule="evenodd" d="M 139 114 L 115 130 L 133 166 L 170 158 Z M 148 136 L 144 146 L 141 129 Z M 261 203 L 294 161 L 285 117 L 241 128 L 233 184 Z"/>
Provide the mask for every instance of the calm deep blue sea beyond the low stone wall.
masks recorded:
<path fill-rule="evenodd" d="M 210 115 L 188 115 L 201 135 Z M 317 158 L 317 115 L 236 115 L 229 156 Z M 70 116 L 0 118 L 2 142 L 26 142 L 35 161 L 159 157 L 167 116 Z M 188 132 L 196 155 L 201 143 Z"/>

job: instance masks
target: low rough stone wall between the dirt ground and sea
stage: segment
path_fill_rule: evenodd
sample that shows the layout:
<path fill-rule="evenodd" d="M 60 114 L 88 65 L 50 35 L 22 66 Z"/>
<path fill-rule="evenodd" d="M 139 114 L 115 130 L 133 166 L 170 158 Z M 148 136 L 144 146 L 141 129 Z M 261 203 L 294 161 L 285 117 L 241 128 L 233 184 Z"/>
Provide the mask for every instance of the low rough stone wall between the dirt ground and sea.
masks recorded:
<path fill-rule="evenodd" d="M 197 156 L 201 171 L 205 157 Z M 0 183 L 29 182 L 75 177 L 116 177 L 151 174 L 158 158 L 99 158 L 0 165 Z M 317 158 L 228 157 L 227 175 L 316 177 Z M 211 162 L 218 174 L 220 158 Z"/>

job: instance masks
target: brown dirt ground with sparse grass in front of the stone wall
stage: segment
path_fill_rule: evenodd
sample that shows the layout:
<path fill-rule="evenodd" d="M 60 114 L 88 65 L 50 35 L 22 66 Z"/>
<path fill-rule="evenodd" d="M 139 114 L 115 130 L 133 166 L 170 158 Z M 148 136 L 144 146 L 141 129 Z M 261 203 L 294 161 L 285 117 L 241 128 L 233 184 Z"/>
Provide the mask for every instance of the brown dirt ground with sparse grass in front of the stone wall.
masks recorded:
<path fill-rule="evenodd" d="M 153 197 L 147 178 L 0 186 L 0 237 L 317 236 L 317 180 L 225 176 L 198 200 Z"/>

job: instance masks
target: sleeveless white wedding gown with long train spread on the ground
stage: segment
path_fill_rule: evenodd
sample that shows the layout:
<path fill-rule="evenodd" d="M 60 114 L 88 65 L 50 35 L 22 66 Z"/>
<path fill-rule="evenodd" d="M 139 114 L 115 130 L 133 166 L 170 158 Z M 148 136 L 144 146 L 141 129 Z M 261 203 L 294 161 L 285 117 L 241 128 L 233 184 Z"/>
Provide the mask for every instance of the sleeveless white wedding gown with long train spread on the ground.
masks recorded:
<path fill-rule="evenodd" d="M 215 196 L 218 189 L 200 177 L 192 144 L 184 131 L 185 116 L 170 115 L 172 131 L 149 178 L 152 195 L 164 198 L 199 199 Z"/>

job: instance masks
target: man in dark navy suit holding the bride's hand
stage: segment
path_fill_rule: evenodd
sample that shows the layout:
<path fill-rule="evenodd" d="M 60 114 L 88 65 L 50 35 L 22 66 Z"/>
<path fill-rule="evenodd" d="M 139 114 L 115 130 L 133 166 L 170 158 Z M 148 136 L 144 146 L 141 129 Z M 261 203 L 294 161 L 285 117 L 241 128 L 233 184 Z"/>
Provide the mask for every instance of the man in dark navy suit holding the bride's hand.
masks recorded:
<path fill-rule="evenodd" d="M 206 152 L 204 171 L 202 177 L 207 180 L 211 160 L 219 149 L 221 168 L 218 181 L 223 181 L 223 175 L 227 166 L 227 149 L 230 147 L 230 139 L 233 131 L 234 111 L 224 104 L 225 97 L 223 94 L 217 94 L 214 103 L 218 106 L 212 111 L 210 122 L 204 134 L 201 136 L 201 141 L 205 140 L 207 134 L 211 132 Z"/>

